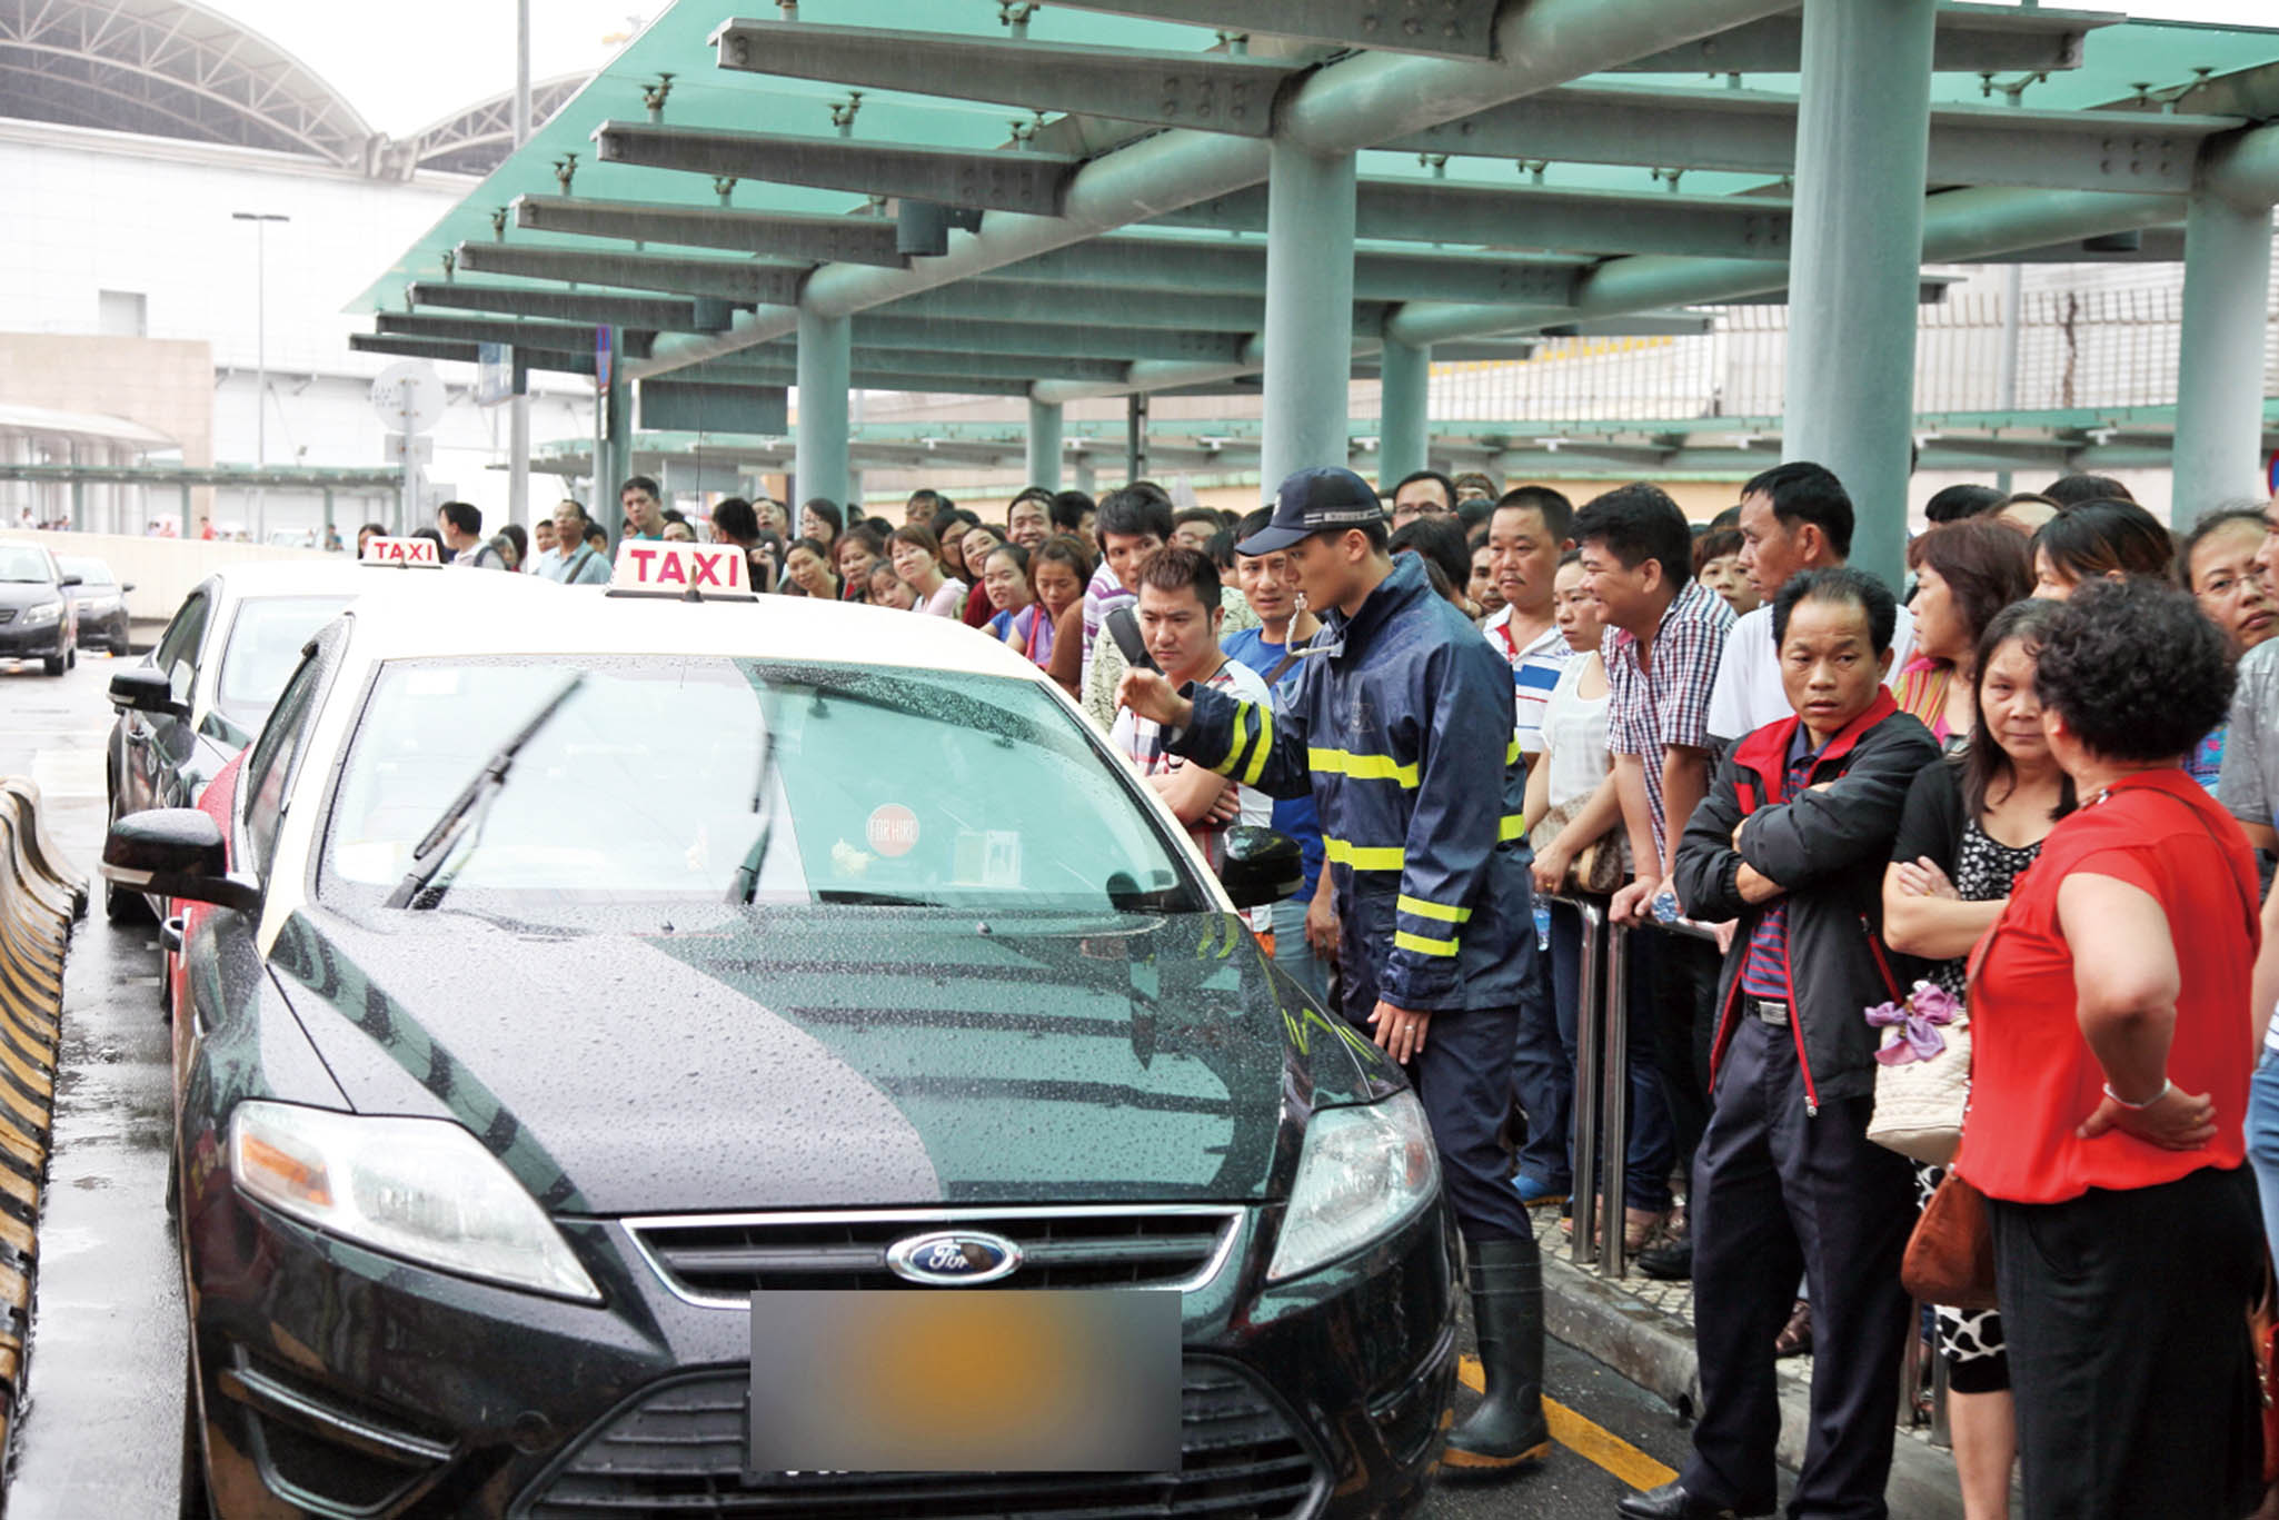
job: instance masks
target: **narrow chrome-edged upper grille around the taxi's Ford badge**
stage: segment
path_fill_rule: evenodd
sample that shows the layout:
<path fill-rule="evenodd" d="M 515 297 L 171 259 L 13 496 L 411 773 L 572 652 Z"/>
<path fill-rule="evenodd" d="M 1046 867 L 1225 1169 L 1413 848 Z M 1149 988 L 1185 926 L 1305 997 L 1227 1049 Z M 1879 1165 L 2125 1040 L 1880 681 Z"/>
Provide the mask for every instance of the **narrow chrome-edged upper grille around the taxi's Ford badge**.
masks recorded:
<path fill-rule="evenodd" d="M 1021 1247 L 1021 1267 L 998 1288 L 1190 1290 L 1219 1269 L 1240 1221 L 1240 1208 L 1133 1206 L 679 1215 L 624 1226 L 675 1292 L 743 1306 L 775 1288 L 916 1288 L 887 1269 L 887 1249 L 944 1228 Z"/>

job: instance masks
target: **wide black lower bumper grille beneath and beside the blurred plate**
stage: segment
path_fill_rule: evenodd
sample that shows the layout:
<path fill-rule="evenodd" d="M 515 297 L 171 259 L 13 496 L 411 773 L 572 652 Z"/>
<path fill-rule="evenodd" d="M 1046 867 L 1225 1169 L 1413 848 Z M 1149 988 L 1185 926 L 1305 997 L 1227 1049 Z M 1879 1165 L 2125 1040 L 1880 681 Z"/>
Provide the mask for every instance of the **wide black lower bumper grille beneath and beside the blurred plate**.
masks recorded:
<path fill-rule="evenodd" d="M 1288 1520 L 1310 1513 L 1324 1472 L 1288 1417 L 1224 1363 L 1190 1360 L 1178 1472 L 834 1472 L 743 1479 L 750 1374 L 711 1372 L 652 1390 L 602 1422 L 515 1509 L 577 1515 L 800 1515 L 816 1520 Z"/>

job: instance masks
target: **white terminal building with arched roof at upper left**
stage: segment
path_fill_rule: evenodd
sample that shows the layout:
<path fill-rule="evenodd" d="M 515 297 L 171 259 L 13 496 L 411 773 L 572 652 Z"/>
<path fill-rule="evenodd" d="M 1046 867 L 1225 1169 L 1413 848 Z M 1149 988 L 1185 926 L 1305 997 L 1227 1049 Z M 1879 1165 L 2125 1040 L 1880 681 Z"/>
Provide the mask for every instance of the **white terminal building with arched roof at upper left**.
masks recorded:
<path fill-rule="evenodd" d="M 581 82 L 536 87 L 533 114 Z M 501 93 L 390 139 L 203 5 L 0 0 L 0 467 L 89 476 L 77 501 L 59 474 L 0 479 L 0 520 L 196 533 L 210 515 L 226 533 L 299 542 L 324 522 L 328 485 L 344 533 L 392 517 L 397 463 L 369 399 L 390 360 L 349 346 L 360 324 L 342 308 L 506 155 L 508 109 Z M 508 419 L 474 401 L 472 378 L 447 374 L 426 472 L 431 495 L 490 517 L 506 504 L 490 465 L 506 460 Z M 590 431 L 593 387 L 536 376 L 531 426 Z M 301 479 L 93 479 L 255 465 Z"/>

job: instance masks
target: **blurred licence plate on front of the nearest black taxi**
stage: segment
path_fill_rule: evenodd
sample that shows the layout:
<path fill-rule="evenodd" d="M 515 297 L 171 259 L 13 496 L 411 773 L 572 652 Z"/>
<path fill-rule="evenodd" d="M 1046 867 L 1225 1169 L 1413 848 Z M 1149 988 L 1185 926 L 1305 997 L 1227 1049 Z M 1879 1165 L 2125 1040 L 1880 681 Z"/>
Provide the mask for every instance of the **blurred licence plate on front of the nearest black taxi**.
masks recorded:
<path fill-rule="evenodd" d="M 1176 1290 L 754 1292 L 745 1481 L 1176 1472 Z"/>

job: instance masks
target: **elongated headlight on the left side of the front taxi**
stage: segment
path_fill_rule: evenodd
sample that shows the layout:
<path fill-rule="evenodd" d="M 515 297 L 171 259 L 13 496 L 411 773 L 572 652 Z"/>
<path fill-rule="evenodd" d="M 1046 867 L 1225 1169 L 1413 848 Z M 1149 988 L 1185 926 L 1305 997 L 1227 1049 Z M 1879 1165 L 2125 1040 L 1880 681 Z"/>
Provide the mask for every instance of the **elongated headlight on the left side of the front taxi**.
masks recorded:
<path fill-rule="evenodd" d="M 230 1114 L 230 1176 L 269 1208 L 376 1251 L 602 1301 L 538 1199 L 449 1119 L 239 1103 Z"/>

